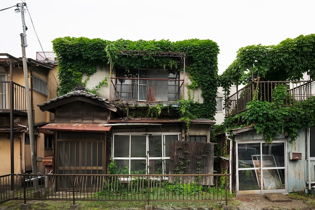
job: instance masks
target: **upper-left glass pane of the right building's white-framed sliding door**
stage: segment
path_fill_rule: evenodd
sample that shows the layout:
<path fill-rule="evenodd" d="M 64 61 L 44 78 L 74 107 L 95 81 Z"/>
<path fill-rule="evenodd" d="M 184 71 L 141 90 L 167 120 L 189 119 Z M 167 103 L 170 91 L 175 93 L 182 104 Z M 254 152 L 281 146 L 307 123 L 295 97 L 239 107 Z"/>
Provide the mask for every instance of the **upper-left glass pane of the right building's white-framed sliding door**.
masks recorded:
<path fill-rule="evenodd" d="M 260 143 L 239 144 L 239 168 L 254 168 L 252 155 L 260 155 Z"/>

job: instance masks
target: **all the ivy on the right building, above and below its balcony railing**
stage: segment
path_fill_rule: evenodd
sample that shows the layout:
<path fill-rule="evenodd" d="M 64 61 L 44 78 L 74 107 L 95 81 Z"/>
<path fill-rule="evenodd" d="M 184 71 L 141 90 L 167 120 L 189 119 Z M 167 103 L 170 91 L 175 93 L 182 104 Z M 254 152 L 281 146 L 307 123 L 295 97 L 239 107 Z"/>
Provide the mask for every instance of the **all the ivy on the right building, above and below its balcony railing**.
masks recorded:
<path fill-rule="evenodd" d="M 251 45 L 242 47 L 235 59 L 220 76 L 220 84 L 229 94 L 229 87 L 248 84 L 254 77 L 261 81 L 300 80 L 307 73 L 315 78 L 315 34 L 286 39 L 278 45 Z M 279 85 L 273 92 L 272 102 L 262 102 L 257 96 L 247 104 L 247 110 L 225 119 L 226 131 L 232 128 L 254 126 L 257 133 L 272 142 L 274 136 L 287 132 L 294 142 L 299 131 L 315 124 L 314 97 L 283 106 L 288 98 L 286 87 Z"/>

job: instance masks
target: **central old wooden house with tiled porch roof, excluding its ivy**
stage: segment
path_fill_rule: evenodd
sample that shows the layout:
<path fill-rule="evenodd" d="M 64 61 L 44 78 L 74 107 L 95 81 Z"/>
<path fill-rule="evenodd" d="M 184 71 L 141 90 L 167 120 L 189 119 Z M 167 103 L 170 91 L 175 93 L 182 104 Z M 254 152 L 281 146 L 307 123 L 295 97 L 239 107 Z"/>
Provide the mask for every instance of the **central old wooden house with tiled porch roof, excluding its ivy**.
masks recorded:
<path fill-rule="evenodd" d="M 185 60 L 184 53 L 174 54 Z M 87 90 L 104 78 L 108 86 L 98 90 L 100 96 Z M 210 127 L 215 122 L 191 120 L 188 129 L 172 110 L 161 109 L 160 117 L 146 113 L 152 107 L 177 108 L 178 100 L 188 97 L 185 84 L 189 82 L 179 69 L 127 71 L 109 65 L 98 67 L 87 87 L 77 85 L 73 92 L 38 105 L 55 115 L 53 123 L 41 127 L 54 131 L 55 173 L 106 174 L 113 160 L 116 173 L 168 174 L 171 141 L 210 144 Z M 191 94 L 202 103 L 200 93 Z M 213 155 L 210 160 L 213 172 Z"/>

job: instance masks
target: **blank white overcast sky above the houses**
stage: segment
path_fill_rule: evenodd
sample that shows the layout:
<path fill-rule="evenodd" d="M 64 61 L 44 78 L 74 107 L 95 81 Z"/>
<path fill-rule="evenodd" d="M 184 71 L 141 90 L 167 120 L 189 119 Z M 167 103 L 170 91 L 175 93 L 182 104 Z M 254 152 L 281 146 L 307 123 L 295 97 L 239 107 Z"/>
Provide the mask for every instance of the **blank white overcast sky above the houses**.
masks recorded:
<path fill-rule="evenodd" d="M 26 56 L 52 51 L 58 37 L 170 40 L 210 39 L 220 48 L 221 74 L 248 45 L 278 44 L 314 33 L 314 0 L 26 0 Z M 2 0 L 0 10 L 20 1 Z M 36 37 L 31 19 L 37 32 Z M 0 11 L 0 52 L 22 56 L 21 13 Z"/>

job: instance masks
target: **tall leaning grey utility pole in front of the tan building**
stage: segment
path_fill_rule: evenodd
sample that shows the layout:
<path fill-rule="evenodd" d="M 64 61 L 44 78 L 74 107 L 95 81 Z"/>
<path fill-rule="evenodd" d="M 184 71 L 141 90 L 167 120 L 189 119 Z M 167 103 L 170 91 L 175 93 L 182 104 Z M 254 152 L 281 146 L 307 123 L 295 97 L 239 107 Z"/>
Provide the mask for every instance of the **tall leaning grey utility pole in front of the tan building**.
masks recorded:
<path fill-rule="evenodd" d="M 30 146 L 31 146 L 32 173 L 37 174 L 34 123 L 33 123 L 32 103 L 31 103 L 29 78 L 28 78 L 27 59 L 26 59 L 26 53 L 25 53 L 25 47 L 27 47 L 27 41 L 26 41 L 27 27 L 24 21 L 24 6 L 26 6 L 26 3 L 20 3 L 18 5 L 20 7 L 20 12 L 22 16 L 22 26 L 23 26 L 23 33 L 21 33 L 20 36 L 21 36 L 21 46 L 22 46 L 22 62 L 23 62 L 24 82 L 25 82 L 27 119 L 28 119 L 28 126 L 29 126 Z M 38 193 L 38 180 L 37 179 L 34 179 L 34 191 L 36 195 L 36 193 Z"/>

